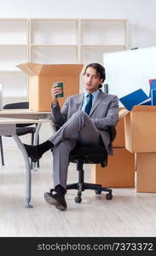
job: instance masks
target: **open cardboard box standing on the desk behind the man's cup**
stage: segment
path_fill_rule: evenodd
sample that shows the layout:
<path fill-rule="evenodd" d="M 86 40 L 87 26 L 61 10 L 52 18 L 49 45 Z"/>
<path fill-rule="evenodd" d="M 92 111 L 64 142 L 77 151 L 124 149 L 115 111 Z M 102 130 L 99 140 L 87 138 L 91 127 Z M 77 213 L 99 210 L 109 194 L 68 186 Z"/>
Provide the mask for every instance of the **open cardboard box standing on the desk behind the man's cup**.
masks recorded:
<path fill-rule="evenodd" d="M 84 67 L 82 64 L 43 65 L 22 63 L 18 65 L 29 75 L 29 108 L 34 111 L 51 110 L 51 85 L 63 82 L 64 97 L 59 98 L 62 107 L 66 96 L 79 93 L 79 76 Z"/>

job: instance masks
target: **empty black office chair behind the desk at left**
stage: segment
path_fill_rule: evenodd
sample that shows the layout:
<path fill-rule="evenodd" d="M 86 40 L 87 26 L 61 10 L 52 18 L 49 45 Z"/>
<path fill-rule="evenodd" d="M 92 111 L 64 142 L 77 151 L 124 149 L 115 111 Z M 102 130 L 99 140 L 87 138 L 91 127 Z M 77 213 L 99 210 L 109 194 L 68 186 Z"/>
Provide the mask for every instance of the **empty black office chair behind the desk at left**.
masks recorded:
<path fill-rule="evenodd" d="M 28 109 L 29 108 L 29 102 L 15 102 L 15 103 L 9 103 L 3 106 L 3 109 Z M 29 127 L 30 125 L 36 125 Z M 38 124 L 17 124 L 16 125 L 16 134 L 18 136 L 23 136 L 28 133 L 32 134 L 32 145 L 34 143 L 34 134 L 36 132 Z M 10 136 L 8 136 L 10 137 Z M 38 143 L 39 143 L 39 137 L 38 137 Z M 1 160 L 2 160 L 2 166 L 4 166 L 4 157 L 3 157 L 3 140 L 2 136 L 0 136 L 0 150 L 1 150 Z M 38 167 L 39 167 L 39 161 L 38 161 Z M 32 161 L 31 161 L 31 168 L 32 168 Z"/>

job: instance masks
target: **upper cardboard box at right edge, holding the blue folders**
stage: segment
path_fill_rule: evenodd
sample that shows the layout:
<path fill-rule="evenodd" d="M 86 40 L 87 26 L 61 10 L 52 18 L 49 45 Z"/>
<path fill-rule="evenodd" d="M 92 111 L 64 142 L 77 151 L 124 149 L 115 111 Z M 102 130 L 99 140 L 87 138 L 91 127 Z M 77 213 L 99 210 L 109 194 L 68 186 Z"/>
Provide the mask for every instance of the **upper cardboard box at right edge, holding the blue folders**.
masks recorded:
<path fill-rule="evenodd" d="M 156 152 L 156 107 L 136 106 L 124 117 L 125 148 Z"/>

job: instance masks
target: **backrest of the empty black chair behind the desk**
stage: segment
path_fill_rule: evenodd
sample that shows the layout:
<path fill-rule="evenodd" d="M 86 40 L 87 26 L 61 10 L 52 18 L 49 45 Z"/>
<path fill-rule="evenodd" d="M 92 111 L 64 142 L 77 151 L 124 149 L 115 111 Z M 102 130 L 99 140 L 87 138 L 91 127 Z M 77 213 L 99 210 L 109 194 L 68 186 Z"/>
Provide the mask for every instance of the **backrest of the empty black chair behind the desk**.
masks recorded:
<path fill-rule="evenodd" d="M 14 102 L 5 104 L 3 106 L 3 109 L 28 109 L 29 108 L 29 102 Z M 17 124 L 16 127 L 26 127 L 34 124 Z"/>

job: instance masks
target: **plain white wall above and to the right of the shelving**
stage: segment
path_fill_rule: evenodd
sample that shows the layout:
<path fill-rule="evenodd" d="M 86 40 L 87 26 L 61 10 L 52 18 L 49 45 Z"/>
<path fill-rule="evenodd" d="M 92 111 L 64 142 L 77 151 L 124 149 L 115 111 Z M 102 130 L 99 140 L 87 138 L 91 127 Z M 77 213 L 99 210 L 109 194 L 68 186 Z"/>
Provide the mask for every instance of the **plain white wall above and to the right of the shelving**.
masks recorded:
<path fill-rule="evenodd" d="M 155 0 L 0 0 L 0 18 L 130 20 L 130 48 L 156 45 Z"/>

